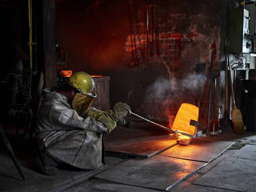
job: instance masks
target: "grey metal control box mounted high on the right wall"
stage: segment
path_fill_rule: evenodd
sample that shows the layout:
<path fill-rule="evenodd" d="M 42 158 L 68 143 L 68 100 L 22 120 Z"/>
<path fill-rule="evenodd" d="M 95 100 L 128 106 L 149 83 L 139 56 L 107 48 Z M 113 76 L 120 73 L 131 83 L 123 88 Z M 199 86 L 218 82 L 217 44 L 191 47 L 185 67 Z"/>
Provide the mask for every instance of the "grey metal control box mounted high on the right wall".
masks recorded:
<path fill-rule="evenodd" d="M 228 51 L 230 53 L 250 53 L 250 15 L 247 9 L 231 9 L 229 12 Z"/>

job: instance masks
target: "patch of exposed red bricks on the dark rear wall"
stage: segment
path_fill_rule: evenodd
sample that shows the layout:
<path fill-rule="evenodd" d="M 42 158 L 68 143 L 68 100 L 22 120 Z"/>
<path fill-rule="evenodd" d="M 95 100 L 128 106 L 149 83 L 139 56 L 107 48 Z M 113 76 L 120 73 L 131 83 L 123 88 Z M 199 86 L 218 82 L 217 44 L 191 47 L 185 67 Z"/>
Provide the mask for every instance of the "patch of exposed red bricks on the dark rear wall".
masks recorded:
<path fill-rule="evenodd" d="M 172 33 L 166 32 L 159 34 L 159 45 L 156 40 L 156 35 L 153 37 L 153 49 L 152 49 L 152 36 L 148 36 L 148 52 L 149 61 L 156 60 L 158 57 L 161 60 L 166 60 L 171 65 L 171 70 L 176 71 L 180 64 L 180 53 L 182 52 L 182 42 L 191 42 L 192 39 L 197 37 L 197 33 Z M 147 61 L 147 40 L 146 34 L 136 35 L 136 49 L 137 59 L 146 63 Z M 125 42 L 125 54 L 126 60 L 135 60 L 135 42 L 134 35 L 128 35 Z"/>

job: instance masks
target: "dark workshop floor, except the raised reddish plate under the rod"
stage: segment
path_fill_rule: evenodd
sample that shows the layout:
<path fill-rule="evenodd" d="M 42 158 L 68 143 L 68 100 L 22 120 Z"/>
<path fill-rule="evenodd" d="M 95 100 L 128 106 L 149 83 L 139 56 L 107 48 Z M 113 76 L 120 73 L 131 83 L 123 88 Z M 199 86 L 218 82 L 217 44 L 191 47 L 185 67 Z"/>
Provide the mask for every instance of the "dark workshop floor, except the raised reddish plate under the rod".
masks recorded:
<path fill-rule="evenodd" d="M 38 173 L 36 140 L 17 139 L 6 130 L 26 181 L 0 146 L 0 191 L 253 191 L 256 133 L 200 136 L 149 158 L 107 157 L 102 169 L 62 167 L 59 176 Z M 199 145 L 200 144 L 200 145 Z M 231 145 L 231 146 L 230 146 Z M 203 146 L 203 148 L 202 148 Z M 229 147 L 230 146 L 230 147 Z M 203 150 L 200 150 L 203 149 Z M 185 149 L 190 153 L 185 153 Z M 194 150 L 194 153 L 191 151 Z M 180 152 L 180 153 L 179 153 Z M 200 155 L 200 152 L 203 153 Z M 248 169 L 245 169 L 248 167 Z M 251 168 L 251 169 L 250 169 Z M 242 175 L 242 176 L 241 176 Z M 234 178 L 235 177 L 235 178 Z M 234 182 L 235 181 L 235 182 Z"/>

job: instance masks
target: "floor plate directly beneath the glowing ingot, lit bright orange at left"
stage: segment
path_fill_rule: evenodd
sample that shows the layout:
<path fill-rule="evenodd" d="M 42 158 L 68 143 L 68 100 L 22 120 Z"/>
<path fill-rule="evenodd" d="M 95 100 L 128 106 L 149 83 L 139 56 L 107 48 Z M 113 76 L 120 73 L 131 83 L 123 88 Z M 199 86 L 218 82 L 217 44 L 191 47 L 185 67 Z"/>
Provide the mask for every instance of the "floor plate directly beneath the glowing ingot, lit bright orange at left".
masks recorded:
<path fill-rule="evenodd" d="M 192 142 L 187 145 L 176 145 L 165 150 L 159 155 L 175 157 L 180 159 L 197 160 L 200 162 L 210 162 L 224 150 L 233 145 L 234 142 L 192 139 Z"/>

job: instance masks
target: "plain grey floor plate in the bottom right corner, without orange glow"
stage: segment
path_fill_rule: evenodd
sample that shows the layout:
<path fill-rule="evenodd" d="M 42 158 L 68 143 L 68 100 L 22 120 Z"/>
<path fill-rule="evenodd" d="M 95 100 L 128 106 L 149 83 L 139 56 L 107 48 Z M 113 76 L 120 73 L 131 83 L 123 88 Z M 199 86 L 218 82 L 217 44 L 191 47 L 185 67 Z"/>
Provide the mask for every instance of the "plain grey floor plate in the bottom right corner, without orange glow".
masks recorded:
<path fill-rule="evenodd" d="M 201 186 L 234 191 L 255 191 L 256 163 L 254 160 L 228 157 L 194 182 Z"/>

